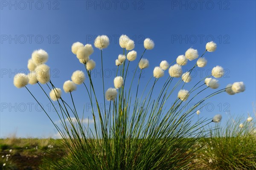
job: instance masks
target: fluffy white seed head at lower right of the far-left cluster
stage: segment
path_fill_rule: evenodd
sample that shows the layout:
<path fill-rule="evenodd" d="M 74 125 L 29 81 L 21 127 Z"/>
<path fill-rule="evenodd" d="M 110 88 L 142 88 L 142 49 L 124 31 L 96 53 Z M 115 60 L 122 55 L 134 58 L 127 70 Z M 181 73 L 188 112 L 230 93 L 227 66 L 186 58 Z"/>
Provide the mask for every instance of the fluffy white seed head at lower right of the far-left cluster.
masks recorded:
<path fill-rule="evenodd" d="M 50 80 L 49 70 L 50 70 L 50 68 L 46 64 L 38 65 L 35 68 L 35 74 L 36 74 L 36 77 L 38 79 L 38 82 L 40 82 L 42 84 L 45 84 L 45 83 L 49 82 L 49 80 Z"/>

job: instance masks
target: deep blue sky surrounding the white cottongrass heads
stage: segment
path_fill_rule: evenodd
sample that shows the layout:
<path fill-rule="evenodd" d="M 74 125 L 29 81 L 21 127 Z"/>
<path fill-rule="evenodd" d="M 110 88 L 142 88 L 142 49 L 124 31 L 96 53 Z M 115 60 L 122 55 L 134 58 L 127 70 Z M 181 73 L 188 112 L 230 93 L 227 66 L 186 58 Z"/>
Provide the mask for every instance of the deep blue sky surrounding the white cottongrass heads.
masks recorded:
<path fill-rule="evenodd" d="M 228 83 L 243 81 L 246 91 L 234 96 L 226 93 L 214 96 L 209 99 L 210 103 L 201 111 L 200 117 L 211 118 L 221 113 L 222 122 L 225 122 L 228 119 L 226 113 L 244 116 L 244 119 L 248 113 L 253 116 L 252 103 L 256 101 L 255 1 L 57 0 L 50 3 L 0 3 L 1 137 L 13 134 L 19 137 L 48 137 L 56 133 L 54 126 L 26 89 L 17 89 L 13 85 L 15 74 L 28 73 L 26 65 L 32 51 L 42 48 L 48 52 L 47 65 L 51 67 L 52 82 L 62 88 L 63 82 L 70 79 L 73 71 L 84 70 L 71 52 L 73 42 L 93 44 L 94 38 L 101 34 L 111 39 L 109 47 L 103 50 L 105 88 L 113 87 L 116 69 L 114 61 L 122 53 L 118 42 L 122 34 L 135 41 L 134 50 L 138 56 L 143 52 L 145 38 L 149 37 L 155 42 L 155 48 L 146 51 L 143 56 L 149 60 L 150 67 L 145 69 L 141 87 L 162 60 L 170 63 L 190 47 L 198 49 L 198 53 L 202 54 L 205 44 L 214 40 L 218 45 L 217 50 L 205 54 L 208 64 L 204 70 L 197 70 L 197 77 L 190 82 L 191 85 L 204 78 L 214 66 L 221 65 L 225 68 L 225 75 L 219 79 L 220 88 L 225 88 Z M 102 95 L 100 51 L 96 48 L 94 51 L 91 56 L 96 61 L 93 79 L 96 94 Z M 128 79 L 137 62 L 135 60 L 131 63 Z M 190 69 L 194 63 L 195 60 L 189 62 L 183 71 Z M 159 83 L 163 83 L 168 76 L 166 71 Z M 85 82 L 88 83 L 88 79 Z M 185 88 L 189 89 L 191 85 L 186 84 Z M 38 85 L 29 85 L 28 88 L 49 111 L 52 119 L 58 121 Z M 202 95 L 206 96 L 213 91 L 207 89 Z M 86 114 L 90 117 L 84 86 L 78 86 L 73 95 L 79 111 L 82 111 L 84 105 L 87 106 Z M 153 95 L 156 96 L 157 91 Z M 68 94 L 63 97 L 70 102 Z"/>

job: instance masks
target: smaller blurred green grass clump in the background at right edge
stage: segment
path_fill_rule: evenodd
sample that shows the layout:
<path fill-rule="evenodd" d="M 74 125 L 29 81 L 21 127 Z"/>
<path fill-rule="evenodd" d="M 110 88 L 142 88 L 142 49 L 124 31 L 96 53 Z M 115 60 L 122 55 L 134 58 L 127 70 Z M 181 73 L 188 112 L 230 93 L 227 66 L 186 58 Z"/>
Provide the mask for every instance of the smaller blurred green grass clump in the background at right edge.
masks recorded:
<path fill-rule="evenodd" d="M 205 139 L 202 160 L 211 170 L 256 169 L 256 122 L 252 117 L 230 118 L 222 127 L 211 130 Z"/>

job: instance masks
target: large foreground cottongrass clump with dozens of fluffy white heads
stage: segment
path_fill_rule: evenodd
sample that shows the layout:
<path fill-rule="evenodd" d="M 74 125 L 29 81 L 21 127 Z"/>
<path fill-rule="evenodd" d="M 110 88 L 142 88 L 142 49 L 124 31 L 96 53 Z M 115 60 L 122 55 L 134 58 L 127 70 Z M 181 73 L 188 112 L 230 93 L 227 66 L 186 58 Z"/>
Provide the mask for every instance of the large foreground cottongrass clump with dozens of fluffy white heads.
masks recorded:
<path fill-rule="evenodd" d="M 106 35 L 96 37 L 94 46 L 101 52 L 101 63 L 98 67 L 103 70 L 103 49 L 110 45 Z M 93 54 L 93 47 L 90 44 L 83 45 L 75 42 L 71 51 L 84 65 L 83 71 L 75 71 L 71 80 L 64 82 L 63 90 L 67 94 L 62 94 L 61 89 L 55 87 L 54 80 L 50 79 L 49 66 L 45 64 L 48 54 L 42 50 L 37 55 L 32 54 L 28 67 L 35 71 L 37 81 L 33 78 L 32 84 L 38 84 L 38 88 L 51 102 L 53 108 L 60 119 L 61 126 L 52 120 L 47 114 L 58 133 L 63 138 L 63 143 L 69 149 L 69 153 L 64 158 L 48 160 L 44 163 L 44 169 L 65 169 L 65 170 L 170 170 L 188 169 L 189 162 L 195 156 L 195 144 L 206 137 L 204 126 L 211 122 L 220 122 L 221 115 L 216 115 L 213 119 L 194 119 L 199 106 L 212 96 L 227 91 L 230 94 L 242 92 L 244 84 L 235 83 L 227 88 L 222 88 L 215 92 L 209 88 L 219 87 L 218 80 L 223 76 L 223 68 L 216 66 L 212 69 L 212 75 L 198 81 L 192 88 L 186 87 L 192 77 L 190 73 L 196 67 L 206 65 L 206 59 L 202 58 L 207 51 L 216 49 L 214 42 L 206 45 L 206 50 L 195 65 L 186 73 L 182 67 L 187 62 L 199 57 L 198 51 L 189 48 L 184 55 L 180 55 L 174 61 L 162 61 L 160 65 L 155 65 L 154 70 L 148 70 L 149 59 L 144 54 L 154 48 L 154 41 L 146 38 L 144 41 L 144 51 L 139 57 L 134 41 L 127 35 L 122 35 L 119 39 L 122 53 L 118 58 L 113 59 L 117 67 L 112 87 L 105 88 L 104 76 L 102 76 L 102 96 L 97 96 L 91 76 L 91 70 L 96 67 L 96 63 L 90 56 Z M 133 51 L 131 51 L 133 50 Z M 47 54 L 47 59 L 46 59 Z M 37 58 L 38 57 L 38 58 Z M 41 59 L 41 58 L 44 59 Z M 117 56 L 116 56 L 117 57 Z M 143 58 L 144 57 L 144 58 Z M 34 62 L 34 60 L 36 62 Z M 177 63 L 175 63 L 177 62 Z M 132 78 L 126 81 L 129 65 L 137 65 Z M 34 69 L 32 69 L 34 68 Z M 141 86 L 142 70 L 151 74 L 151 78 Z M 166 71 L 168 69 L 168 71 Z M 139 77 L 135 73 L 139 71 Z M 166 72 L 166 74 L 164 74 Z M 87 74 L 88 79 L 85 79 Z M 169 74 L 168 74 L 169 73 Z M 39 75 L 38 75 L 39 74 Z M 34 75 L 34 74 L 33 74 Z M 182 76 L 183 75 L 183 76 Z M 14 85 L 17 88 L 27 86 L 32 76 L 16 75 Z M 68 78 L 67 78 L 68 79 Z M 163 85 L 159 86 L 160 79 Z M 96 103 L 96 109 L 92 108 L 91 113 L 77 111 L 73 93 L 76 92 L 77 85 L 84 85 L 86 96 L 84 101 L 89 101 L 91 105 Z M 154 93 L 153 93 L 154 91 Z M 207 96 L 202 96 L 203 91 L 209 91 Z M 29 91 L 32 97 L 41 106 L 38 99 Z M 72 103 L 68 103 L 62 96 L 70 97 Z M 199 101 L 194 101 L 196 96 L 201 96 Z M 42 97 L 42 96 L 40 96 Z M 170 101 L 170 99 L 173 99 Z M 103 101 L 103 107 L 99 102 Z M 195 105 L 188 110 L 185 108 L 191 102 Z M 57 111 L 54 103 L 57 103 L 60 111 Z M 180 107 L 184 104 L 185 107 Z M 93 127 L 84 124 L 84 115 L 93 117 Z M 197 114 L 199 114 L 197 112 Z M 99 120 L 98 120 L 99 119 Z M 88 119 L 86 119 L 88 120 Z M 211 121 L 212 120 L 212 121 Z"/>

